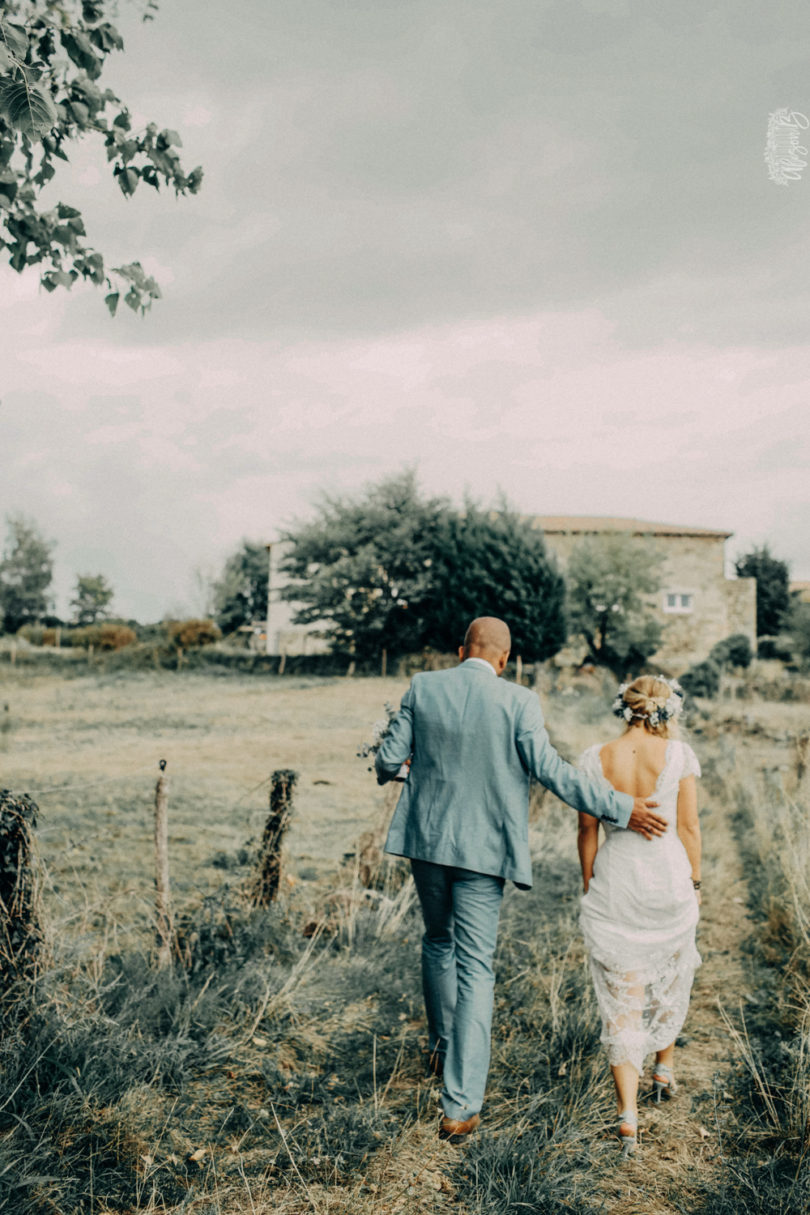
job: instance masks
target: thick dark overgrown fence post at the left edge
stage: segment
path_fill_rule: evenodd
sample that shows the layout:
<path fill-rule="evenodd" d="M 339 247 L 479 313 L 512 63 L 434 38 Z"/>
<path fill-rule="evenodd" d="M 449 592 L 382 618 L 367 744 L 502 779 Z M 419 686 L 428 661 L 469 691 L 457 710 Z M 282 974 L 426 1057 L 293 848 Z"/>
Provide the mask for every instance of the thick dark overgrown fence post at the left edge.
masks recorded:
<path fill-rule="evenodd" d="M 0 790 L 0 995 L 33 976 L 43 944 L 32 836 L 38 814 L 30 797 Z"/>

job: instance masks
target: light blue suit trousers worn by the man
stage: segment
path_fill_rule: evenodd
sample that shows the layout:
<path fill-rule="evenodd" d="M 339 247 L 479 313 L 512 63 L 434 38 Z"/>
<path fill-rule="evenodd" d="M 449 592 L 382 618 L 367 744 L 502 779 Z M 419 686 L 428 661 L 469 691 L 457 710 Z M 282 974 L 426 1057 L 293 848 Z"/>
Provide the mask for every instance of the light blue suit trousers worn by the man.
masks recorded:
<path fill-rule="evenodd" d="M 503 877 L 412 860 L 425 921 L 421 983 L 431 1053 L 443 1063 L 442 1109 L 477 1114 L 489 1070 L 489 1035 Z"/>

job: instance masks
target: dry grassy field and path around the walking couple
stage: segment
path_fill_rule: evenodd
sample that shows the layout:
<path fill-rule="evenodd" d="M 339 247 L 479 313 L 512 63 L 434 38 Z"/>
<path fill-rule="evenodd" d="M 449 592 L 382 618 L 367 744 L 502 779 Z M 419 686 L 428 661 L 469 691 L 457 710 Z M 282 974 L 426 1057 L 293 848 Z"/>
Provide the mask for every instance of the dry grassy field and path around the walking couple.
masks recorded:
<path fill-rule="evenodd" d="M 356 751 L 406 682 L 2 677 L 0 785 L 40 806 L 50 961 L 0 1047 L 0 1211 L 810 1209 L 806 703 L 727 699 L 693 722 L 703 967 L 679 1097 L 642 1106 L 641 1153 L 621 1166 L 571 810 L 533 798 L 536 885 L 504 902 L 482 1131 L 452 1148 L 436 1138 L 421 1057 L 410 886 L 396 864 L 369 854 L 362 881 L 344 859 L 390 815 Z M 599 688 L 544 703 L 571 758 L 614 733 Z M 163 973 L 151 929 L 159 758 L 187 945 L 186 965 Z M 240 893 L 245 844 L 276 768 L 300 774 L 287 881 L 255 911 Z"/>

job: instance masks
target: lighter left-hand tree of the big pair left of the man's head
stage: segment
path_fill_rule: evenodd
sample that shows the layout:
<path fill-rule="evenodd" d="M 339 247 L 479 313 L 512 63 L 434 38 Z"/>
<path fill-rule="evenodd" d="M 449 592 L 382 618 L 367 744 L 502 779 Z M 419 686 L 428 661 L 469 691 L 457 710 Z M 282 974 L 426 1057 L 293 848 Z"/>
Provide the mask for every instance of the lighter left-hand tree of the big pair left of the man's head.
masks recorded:
<path fill-rule="evenodd" d="M 324 496 L 316 518 L 287 532 L 287 598 L 299 625 L 318 623 L 333 649 L 358 660 L 425 644 L 425 600 L 447 503 L 423 499 L 415 474 L 400 473 L 362 495 Z"/>

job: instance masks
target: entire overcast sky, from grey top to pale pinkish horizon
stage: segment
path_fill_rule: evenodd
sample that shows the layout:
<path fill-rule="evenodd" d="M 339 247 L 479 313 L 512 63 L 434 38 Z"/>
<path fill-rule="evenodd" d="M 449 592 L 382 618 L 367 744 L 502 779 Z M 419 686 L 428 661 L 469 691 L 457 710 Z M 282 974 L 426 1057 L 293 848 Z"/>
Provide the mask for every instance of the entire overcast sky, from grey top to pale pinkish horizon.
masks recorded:
<path fill-rule="evenodd" d="M 77 145 L 49 199 L 165 298 L 0 269 L 0 512 L 57 606 L 198 611 L 196 569 L 322 491 L 430 492 L 769 542 L 810 578 L 810 5 L 162 0 L 103 81 L 181 131 L 197 198 Z M 810 135 L 810 131 L 808 132 Z M 810 139 L 806 141 L 810 143 Z"/>

